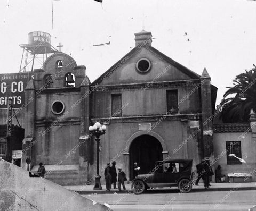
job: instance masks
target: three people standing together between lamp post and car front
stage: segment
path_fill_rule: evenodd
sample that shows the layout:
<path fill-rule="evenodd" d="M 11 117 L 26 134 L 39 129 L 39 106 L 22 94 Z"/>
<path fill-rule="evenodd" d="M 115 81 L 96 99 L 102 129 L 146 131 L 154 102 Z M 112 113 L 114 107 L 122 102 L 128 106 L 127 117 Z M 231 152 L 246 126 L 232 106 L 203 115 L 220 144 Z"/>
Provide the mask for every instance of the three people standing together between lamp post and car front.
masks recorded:
<path fill-rule="evenodd" d="M 106 191 L 110 191 L 111 185 L 113 184 L 113 189 L 116 188 L 116 182 L 118 181 L 118 190 L 121 190 L 121 184 L 123 186 L 123 189 L 125 189 L 124 182 L 127 180 L 125 173 L 122 171 L 122 168 L 118 168 L 118 180 L 117 180 L 117 172 L 116 172 L 116 162 L 112 162 L 112 166 L 110 166 L 110 163 L 107 163 L 107 167 L 104 171 L 105 180 L 106 180 Z"/>

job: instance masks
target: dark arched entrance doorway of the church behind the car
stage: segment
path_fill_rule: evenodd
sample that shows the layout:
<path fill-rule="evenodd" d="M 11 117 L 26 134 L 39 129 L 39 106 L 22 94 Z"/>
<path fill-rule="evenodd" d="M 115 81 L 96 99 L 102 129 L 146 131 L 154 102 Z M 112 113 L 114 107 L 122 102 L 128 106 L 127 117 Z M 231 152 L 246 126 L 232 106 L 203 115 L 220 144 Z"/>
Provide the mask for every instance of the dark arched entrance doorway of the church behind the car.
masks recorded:
<path fill-rule="evenodd" d="M 155 167 L 155 161 L 163 159 L 163 147 L 155 137 L 141 135 L 132 141 L 129 154 L 130 179 L 133 179 L 133 164 L 137 162 L 140 166 L 139 174 L 149 173 Z"/>

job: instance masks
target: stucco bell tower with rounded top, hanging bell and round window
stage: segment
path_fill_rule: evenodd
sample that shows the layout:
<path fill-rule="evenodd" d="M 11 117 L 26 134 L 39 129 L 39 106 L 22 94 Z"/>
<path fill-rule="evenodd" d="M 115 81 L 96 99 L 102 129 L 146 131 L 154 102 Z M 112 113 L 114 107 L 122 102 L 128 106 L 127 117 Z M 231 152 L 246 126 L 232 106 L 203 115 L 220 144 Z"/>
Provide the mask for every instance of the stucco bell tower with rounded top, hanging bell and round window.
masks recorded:
<path fill-rule="evenodd" d="M 46 173 L 55 166 L 46 179 L 60 185 L 87 181 L 88 142 L 84 140 L 84 128 L 89 127 L 86 119 L 89 113 L 83 108 L 89 109 L 89 101 L 84 99 L 85 70 L 69 55 L 55 52 L 47 57 L 41 69 L 34 69 L 34 80 L 25 92 L 25 95 L 34 93 L 34 104 L 28 111 L 34 115 L 25 128 L 33 135 L 24 144 L 27 147 L 29 141 L 35 142 L 28 155 L 30 166 L 34 166 L 30 171 L 36 172 L 40 162 L 45 165 Z"/>

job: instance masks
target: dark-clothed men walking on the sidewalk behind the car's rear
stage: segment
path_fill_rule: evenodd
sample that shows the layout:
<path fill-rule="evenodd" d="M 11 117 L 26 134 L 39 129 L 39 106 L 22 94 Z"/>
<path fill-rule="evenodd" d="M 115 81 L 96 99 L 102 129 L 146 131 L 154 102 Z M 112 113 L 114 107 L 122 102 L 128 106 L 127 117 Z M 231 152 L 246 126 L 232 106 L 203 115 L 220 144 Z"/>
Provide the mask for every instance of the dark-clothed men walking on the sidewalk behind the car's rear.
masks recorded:
<path fill-rule="evenodd" d="M 210 166 L 210 159 L 202 159 L 201 163 L 196 165 L 198 177 L 195 185 L 198 185 L 199 180 L 202 178 L 204 180 L 204 188 L 209 189 L 210 177 L 214 175 L 212 167 Z"/>

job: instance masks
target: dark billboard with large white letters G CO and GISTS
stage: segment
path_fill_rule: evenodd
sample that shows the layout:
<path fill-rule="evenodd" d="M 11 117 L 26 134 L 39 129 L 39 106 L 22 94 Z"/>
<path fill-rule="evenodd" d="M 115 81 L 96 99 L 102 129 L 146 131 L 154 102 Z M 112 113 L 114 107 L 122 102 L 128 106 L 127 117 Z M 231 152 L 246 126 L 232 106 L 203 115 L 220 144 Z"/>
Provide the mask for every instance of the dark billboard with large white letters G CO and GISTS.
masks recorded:
<path fill-rule="evenodd" d="M 0 74 L 0 109 L 7 109 L 8 99 L 12 99 L 13 108 L 22 107 L 30 79 L 34 79 L 34 72 Z"/>

